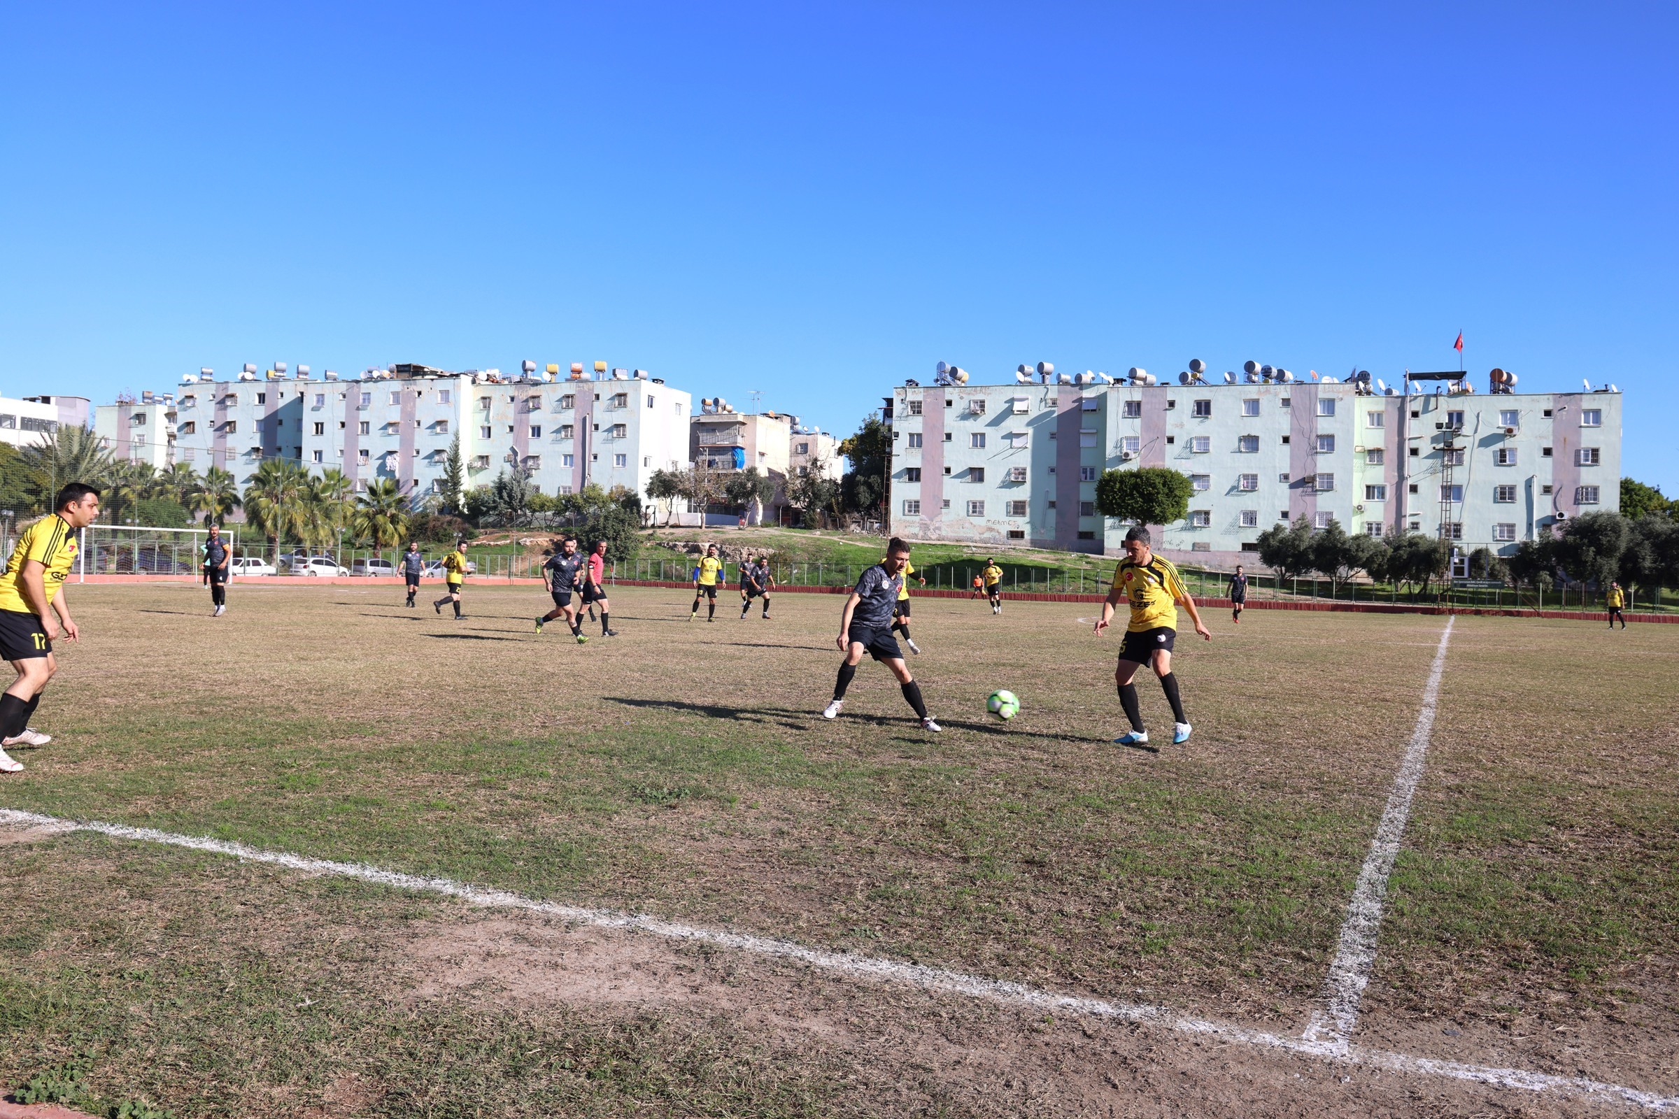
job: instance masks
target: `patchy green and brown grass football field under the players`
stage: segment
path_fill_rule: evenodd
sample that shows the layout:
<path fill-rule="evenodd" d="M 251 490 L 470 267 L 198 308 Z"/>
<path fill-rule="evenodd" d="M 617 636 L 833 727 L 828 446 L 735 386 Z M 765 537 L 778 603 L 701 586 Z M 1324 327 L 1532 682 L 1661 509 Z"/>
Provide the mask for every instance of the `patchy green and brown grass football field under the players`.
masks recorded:
<path fill-rule="evenodd" d="M 1110 743 L 1098 607 L 918 599 L 920 731 L 843 599 L 69 589 L 0 809 L 648 913 L 1298 1037 L 1446 619 L 1182 627 L 1195 733 Z M 727 592 L 732 596 L 734 592 Z M 1083 621 L 1081 621 L 1083 619 Z M 1362 1045 L 1679 1094 L 1679 627 L 1457 617 Z M 984 698 L 1011 688 L 1012 723 Z M 1603 1114 L 866 983 L 332 874 L 0 830 L 0 1096 L 175 1116 Z"/>

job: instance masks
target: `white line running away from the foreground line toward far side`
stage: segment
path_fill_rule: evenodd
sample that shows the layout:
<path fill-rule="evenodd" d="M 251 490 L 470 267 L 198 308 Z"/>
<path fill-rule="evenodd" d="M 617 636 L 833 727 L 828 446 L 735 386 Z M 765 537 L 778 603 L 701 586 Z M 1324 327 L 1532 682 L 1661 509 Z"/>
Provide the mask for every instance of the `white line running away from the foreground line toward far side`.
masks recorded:
<path fill-rule="evenodd" d="M 1387 876 L 1394 872 L 1399 841 L 1404 839 L 1405 820 L 1410 819 L 1410 799 L 1422 780 L 1422 760 L 1429 753 L 1429 738 L 1434 735 L 1434 710 L 1441 698 L 1446 644 L 1451 641 L 1454 621 L 1457 621 L 1456 616 L 1447 617 L 1446 629 L 1441 631 L 1441 644 L 1434 651 L 1434 664 L 1429 668 L 1429 683 L 1422 688 L 1417 726 L 1410 731 L 1410 745 L 1405 747 L 1405 757 L 1399 763 L 1394 789 L 1387 794 L 1387 807 L 1382 810 L 1382 820 L 1375 825 L 1370 854 L 1365 856 L 1365 864 L 1358 871 L 1353 898 L 1347 903 L 1340 945 L 1323 981 L 1323 997 L 1328 1007 L 1311 1012 L 1311 1022 L 1305 1033 L 1308 1042 L 1345 1049 L 1352 1040 L 1353 1025 L 1358 1022 L 1358 1003 L 1363 1000 L 1365 986 L 1370 983 L 1370 968 L 1375 965 L 1375 938 L 1382 931 Z"/>

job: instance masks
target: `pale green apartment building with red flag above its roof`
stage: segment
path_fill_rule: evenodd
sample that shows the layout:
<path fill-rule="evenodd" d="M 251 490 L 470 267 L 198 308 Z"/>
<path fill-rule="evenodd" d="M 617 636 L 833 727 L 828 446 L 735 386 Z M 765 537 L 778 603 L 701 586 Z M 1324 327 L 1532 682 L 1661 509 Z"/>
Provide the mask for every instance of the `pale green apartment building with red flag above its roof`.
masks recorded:
<path fill-rule="evenodd" d="M 1368 394 L 1353 383 L 903 386 L 890 523 L 902 535 L 1118 554 L 1096 515 L 1105 470 L 1170 466 L 1194 487 L 1162 552 L 1254 562 L 1306 517 L 1348 532 L 1442 533 L 1511 552 L 1619 508 L 1620 394 Z"/>

